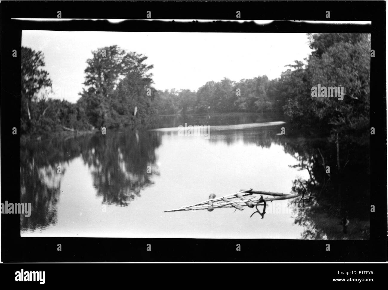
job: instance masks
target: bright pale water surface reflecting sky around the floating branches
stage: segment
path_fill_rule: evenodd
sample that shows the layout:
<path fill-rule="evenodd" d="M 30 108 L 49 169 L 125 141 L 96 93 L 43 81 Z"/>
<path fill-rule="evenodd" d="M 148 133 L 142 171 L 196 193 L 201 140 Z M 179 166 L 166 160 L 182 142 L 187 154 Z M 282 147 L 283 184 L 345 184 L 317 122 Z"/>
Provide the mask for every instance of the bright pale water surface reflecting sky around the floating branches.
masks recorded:
<path fill-rule="evenodd" d="M 166 237 L 166 238 L 300 238 L 303 228 L 293 224 L 292 214 L 275 214 L 271 203 L 264 219 L 254 209 L 236 211 L 221 208 L 208 212 L 171 212 L 178 208 L 217 197 L 239 189 L 289 193 L 297 177 L 308 178 L 307 170 L 298 171 L 288 165 L 297 163 L 284 153 L 282 146 L 261 148 L 255 143 L 255 131 L 230 132 L 234 142 L 217 142 L 204 137 L 163 134 L 156 149 L 160 176 L 154 185 L 141 191 L 141 197 L 129 207 L 109 205 L 102 211 L 102 196 L 93 187 L 90 169 L 81 157 L 69 162 L 61 180 L 57 208 L 57 224 L 22 236 L 95 236 L 95 237 Z M 211 135 L 212 136 L 212 135 Z M 288 200 L 277 203 L 288 203 Z"/>

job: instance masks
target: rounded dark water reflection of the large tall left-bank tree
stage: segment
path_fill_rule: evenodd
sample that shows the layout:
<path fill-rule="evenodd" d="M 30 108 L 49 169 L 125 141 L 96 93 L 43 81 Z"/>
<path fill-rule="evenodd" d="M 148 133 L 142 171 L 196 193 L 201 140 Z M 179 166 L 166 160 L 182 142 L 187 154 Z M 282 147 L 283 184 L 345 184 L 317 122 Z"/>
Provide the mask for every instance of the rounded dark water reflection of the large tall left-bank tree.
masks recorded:
<path fill-rule="evenodd" d="M 127 206 L 152 184 L 151 176 L 158 174 L 155 148 L 159 144 L 158 136 L 147 132 L 98 134 L 90 139 L 82 158 L 92 170 L 103 203 Z"/>

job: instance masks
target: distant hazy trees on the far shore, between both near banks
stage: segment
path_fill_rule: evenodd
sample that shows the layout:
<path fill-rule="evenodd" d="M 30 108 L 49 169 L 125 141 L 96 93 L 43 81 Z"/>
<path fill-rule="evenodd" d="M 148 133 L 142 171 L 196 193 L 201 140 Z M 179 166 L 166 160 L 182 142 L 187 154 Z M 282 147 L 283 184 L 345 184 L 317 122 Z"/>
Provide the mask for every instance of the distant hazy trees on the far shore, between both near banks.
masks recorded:
<path fill-rule="evenodd" d="M 267 76 L 234 82 L 224 78 L 220 82 L 206 82 L 196 92 L 190 90 L 165 90 L 158 92 L 159 113 L 226 113 L 281 111 L 277 95 L 280 79 Z"/>

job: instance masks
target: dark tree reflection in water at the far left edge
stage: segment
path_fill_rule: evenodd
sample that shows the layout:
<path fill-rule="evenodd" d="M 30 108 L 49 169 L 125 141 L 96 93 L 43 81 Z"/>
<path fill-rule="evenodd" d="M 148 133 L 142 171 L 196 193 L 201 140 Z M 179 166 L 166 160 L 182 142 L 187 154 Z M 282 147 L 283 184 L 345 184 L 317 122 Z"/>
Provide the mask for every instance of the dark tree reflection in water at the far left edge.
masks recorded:
<path fill-rule="evenodd" d="M 21 229 L 44 228 L 55 224 L 62 174 L 66 162 L 77 156 L 80 146 L 75 140 L 58 139 L 30 142 L 22 139 L 20 148 L 21 202 L 31 203 L 31 216 L 21 215 Z"/>

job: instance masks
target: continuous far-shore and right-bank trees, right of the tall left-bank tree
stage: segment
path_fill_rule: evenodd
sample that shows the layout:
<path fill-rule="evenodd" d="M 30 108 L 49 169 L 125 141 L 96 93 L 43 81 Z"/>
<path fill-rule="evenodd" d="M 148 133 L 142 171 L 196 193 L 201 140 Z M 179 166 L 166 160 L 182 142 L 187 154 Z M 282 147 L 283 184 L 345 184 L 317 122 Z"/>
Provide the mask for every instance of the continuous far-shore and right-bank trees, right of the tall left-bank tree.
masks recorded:
<path fill-rule="evenodd" d="M 355 128 L 369 117 L 370 35 L 353 33 L 310 34 L 312 54 L 289 64 L 280 78 L 266 75 L 234 82 L 210 81 L 196 92 L 159 91 L 161 114 L 267 112 L 284 113 L 302 125 Z M 318 84 L 345 87 L 345 99 L 311 97 Z"/>

